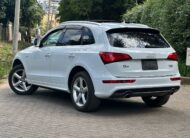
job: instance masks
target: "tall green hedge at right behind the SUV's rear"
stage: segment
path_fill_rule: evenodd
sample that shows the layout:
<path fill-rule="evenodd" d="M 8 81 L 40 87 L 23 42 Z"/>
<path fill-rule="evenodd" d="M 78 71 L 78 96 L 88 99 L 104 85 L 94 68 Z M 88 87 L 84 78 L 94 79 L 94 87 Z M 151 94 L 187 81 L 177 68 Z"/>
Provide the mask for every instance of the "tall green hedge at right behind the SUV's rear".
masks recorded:
<path fill-rule="evenodd" d="M 181 74 L 189 75 L 185 59 L 190 47 L 190 0 L 147 0 L 124 14 L 123 19 L 159 29 L 180 57 Z"/>

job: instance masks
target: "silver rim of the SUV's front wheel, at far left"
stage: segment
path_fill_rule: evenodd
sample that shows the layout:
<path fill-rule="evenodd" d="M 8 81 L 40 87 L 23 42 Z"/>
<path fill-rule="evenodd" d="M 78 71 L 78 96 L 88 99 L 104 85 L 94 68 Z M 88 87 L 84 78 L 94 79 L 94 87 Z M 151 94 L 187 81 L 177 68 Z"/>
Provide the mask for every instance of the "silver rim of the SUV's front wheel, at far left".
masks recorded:
<path fill-rule="evenodd" d="M 31 84 L 26 81 L 24 69 L 16 70 L 12 76 L 13 87 L 19 92 L 26 92 L 31 88 Z"/>

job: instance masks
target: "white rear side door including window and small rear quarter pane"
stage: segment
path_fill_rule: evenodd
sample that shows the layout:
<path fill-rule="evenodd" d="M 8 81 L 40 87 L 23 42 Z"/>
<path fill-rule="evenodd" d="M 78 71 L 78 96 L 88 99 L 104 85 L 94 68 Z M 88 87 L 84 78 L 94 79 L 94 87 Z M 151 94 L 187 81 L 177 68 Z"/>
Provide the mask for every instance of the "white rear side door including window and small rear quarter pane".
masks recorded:
<path fill-rule="evenodd" d="M 71 69 L 81 56 L 86 56 L 86 50 L 94 43 L 90 29 L 79 25 L 66 26 L 57 46 L 52 49 L 51 72 L 55 87 L 67 88 Z"/>

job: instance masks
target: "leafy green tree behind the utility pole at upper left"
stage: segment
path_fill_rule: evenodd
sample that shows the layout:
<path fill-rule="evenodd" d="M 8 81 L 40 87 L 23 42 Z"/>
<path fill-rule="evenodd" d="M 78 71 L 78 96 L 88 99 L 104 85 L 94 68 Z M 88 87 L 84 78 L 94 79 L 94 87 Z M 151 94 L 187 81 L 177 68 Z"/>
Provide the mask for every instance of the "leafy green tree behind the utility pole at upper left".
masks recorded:
<path fill-rule="evenodd" d="M 0 1 L 0 22 L 4 26 L 14 21 L 15 0 Z M 27 32 L 28 42 L 31 39 L 31 30 L 40 24 L 44 11 L 36 0 L 21 0 L 21 33 Z"/>

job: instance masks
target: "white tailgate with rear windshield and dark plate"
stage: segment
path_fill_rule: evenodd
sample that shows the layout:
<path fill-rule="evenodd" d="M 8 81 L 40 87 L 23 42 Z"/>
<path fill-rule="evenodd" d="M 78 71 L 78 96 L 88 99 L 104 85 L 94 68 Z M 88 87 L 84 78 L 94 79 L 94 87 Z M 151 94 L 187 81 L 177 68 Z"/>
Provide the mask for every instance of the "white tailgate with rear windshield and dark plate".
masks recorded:
<path fill-rule="evenodd" d="M 116 77 L 164 77 L 178 73 L 176 53 L 153 29 L 112 29 L 107 32 L 110 50 L 130 57 L 106 64 Z"/>

